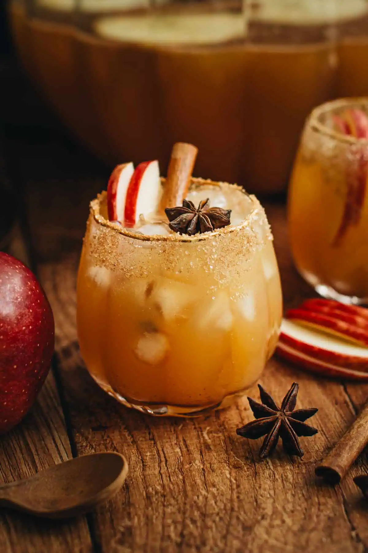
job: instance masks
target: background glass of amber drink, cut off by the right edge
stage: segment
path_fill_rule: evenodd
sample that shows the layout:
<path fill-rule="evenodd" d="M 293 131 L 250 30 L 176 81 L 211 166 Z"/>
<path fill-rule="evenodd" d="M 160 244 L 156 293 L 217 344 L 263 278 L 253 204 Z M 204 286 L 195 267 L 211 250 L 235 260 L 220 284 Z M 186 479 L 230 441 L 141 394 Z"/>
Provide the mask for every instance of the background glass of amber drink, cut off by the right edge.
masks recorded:
<path fill-rule="evenodd" d="M 367 168 L 368 98 L 314 109 L 290 182 L 291 249 L 319 294 L 348 303 L 368 301 Z"/>

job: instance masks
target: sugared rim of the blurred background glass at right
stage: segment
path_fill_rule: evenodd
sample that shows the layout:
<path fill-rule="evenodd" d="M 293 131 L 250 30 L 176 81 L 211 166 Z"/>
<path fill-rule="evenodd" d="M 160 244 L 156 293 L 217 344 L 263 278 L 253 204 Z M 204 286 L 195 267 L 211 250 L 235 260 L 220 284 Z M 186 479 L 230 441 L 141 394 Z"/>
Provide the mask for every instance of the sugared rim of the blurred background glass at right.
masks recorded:
<path fill-rule="evenodd" d="M 307 118 L 306 124 L 311 127 L 312 131 L 324 134 L 329 138 L 333 138 L 337 142 L 345 142 L 347 144 L 368 144 L 368 138 L 356 138 L 348 134 L 335 131 L 335 129 L 321 123 L 319 119 L 322 114 L 332 112 L 334 109 L 353 106 L 365 106 L 366 111 L 368 112 L 368 96 L 338 98 L 337 100 L 324 102 L 323 104 L 312 109 Z"/>

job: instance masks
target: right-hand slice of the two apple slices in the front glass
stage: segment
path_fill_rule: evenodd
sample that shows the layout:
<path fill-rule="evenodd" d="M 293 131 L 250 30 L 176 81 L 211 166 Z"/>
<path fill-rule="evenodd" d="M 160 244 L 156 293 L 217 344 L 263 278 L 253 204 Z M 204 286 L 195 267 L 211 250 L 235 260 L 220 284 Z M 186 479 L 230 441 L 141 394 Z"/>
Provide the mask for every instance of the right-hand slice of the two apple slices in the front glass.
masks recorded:
<path fill-rule="evenodd" d="M 143 161 L 137 165 L 126 192 L 125 226 L 134 227 L 140 215 L 147 217 L 156 211 L 161 190 L 158 161 Z"/>

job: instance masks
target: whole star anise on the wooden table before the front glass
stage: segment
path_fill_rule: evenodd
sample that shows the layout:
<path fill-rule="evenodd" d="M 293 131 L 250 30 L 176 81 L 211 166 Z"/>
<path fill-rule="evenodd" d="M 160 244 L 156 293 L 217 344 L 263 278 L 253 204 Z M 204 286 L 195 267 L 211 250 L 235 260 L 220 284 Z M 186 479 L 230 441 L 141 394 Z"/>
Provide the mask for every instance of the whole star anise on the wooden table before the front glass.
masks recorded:
<path fill-rule="evenodd" d="M 270 394 L 258 384 L 261 403 L 257 403 L 252 398 L 248 398 L 250 409 L 253 411 L 255 419 L 248 422 L 245 426 L 238 428 L 236 433 L 250 440 L 257 440 L 266 435 L 259 456 L 265 459 L 275 449 L 279 441 L 282 440 L 282 447 L 289 455 L 303 456 L 303 450 L 299 445 L 298 436 L 313 436 L 318 430 L 305 424 L 305 420 L 317 413 L 318 409 L 295 409 L 296 396 L 299 385 L 293 382 L 289 392 L 282 400 L 279 408 Z"/>

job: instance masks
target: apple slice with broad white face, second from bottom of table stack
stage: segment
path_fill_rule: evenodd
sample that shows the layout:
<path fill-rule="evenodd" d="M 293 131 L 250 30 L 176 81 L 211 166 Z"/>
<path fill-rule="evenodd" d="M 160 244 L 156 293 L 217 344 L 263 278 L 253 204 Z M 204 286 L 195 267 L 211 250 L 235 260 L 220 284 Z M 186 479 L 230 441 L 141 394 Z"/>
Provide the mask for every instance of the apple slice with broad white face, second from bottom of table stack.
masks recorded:
<path fill-rule="evenodd" d="M 351 345 L 285 319 L 281 324 L 280 341 L 318 361 L 368 373 L 368 348 Z"/>

